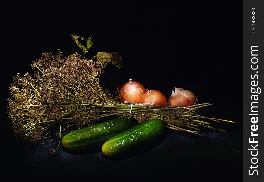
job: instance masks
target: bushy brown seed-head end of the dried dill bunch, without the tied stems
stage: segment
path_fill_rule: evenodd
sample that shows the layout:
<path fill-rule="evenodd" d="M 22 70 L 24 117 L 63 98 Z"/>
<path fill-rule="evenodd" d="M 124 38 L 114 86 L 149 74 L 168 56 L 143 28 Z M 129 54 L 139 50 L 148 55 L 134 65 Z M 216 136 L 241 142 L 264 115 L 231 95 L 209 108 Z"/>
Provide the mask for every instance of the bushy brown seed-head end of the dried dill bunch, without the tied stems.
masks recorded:
<path fill-rule="evenodd" d="M 101 107 L 110 101 L 99 85 L 103 64 L 77 53 L 64 57 L 42 53 L 32 62 L 34 74 L 19 73 L 10 86 L 8 117 L 15 135 L 39 142 L 55 129 L 67 133 L 96 121 Z M 88 104 L 89 103 L 89 104 Z"/>

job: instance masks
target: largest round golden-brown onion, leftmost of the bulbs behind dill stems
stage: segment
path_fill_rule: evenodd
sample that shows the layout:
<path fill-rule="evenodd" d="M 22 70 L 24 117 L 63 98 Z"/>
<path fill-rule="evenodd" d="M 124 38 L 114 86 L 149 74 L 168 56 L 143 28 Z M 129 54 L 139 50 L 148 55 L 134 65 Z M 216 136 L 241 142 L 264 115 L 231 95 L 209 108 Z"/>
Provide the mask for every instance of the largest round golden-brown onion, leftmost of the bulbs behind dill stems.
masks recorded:
<path fill-rule="evenodd" d="M 145 92 L 146 88 L 141 83 L 134 82 L 130 78 L 129 82 L 125 83 L 120 89 L 119 96 L 122 102 L 141 103 Z"/>

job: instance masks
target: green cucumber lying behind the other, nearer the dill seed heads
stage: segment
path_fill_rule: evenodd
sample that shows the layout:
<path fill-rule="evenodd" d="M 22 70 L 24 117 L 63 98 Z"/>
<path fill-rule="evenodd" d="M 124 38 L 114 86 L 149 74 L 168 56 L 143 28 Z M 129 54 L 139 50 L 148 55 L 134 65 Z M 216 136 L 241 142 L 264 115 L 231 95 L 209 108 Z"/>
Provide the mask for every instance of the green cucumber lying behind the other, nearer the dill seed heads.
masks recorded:
<path fill-rule="evenodd" d="M 106 140 L 132 126 L 133 123 L 126 117 L 108 120 L 66 134 L 62 139 L 62 146 L 69 152 L 100 149 Z"/>

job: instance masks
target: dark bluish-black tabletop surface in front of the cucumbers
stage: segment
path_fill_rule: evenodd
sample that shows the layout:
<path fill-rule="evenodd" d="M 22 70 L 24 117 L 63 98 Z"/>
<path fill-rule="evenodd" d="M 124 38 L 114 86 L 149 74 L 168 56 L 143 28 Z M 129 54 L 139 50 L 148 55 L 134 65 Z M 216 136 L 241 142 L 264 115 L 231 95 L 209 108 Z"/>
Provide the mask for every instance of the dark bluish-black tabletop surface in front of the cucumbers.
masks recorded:
<path fill-rule="evenodd" d="M 222 127 L 224 129 L 224 127 Z M 204 132 L 205 137 L 167 129 L 166 138 L 151 148 L 120 159 L 99 151 L 66 153 L 57 142 L 34 144 L 7 132 L 1 137 L 3 176 L 12 179 L 83 179 L 89 181 L 241 181 L 242 135 Z"/>

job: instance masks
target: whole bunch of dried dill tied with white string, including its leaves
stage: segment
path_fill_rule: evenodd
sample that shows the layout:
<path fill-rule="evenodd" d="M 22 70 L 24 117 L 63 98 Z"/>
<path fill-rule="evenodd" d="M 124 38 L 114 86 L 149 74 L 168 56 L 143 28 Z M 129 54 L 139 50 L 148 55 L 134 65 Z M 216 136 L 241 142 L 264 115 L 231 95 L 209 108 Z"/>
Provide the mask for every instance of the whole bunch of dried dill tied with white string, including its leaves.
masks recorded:
<path fill-rule="evenodd" d="M 72 36 L 84 53 L 91 47 L 90 38 L 86 39 L 85 47 L 77 41 L 78 36 Z M 171 129 L 197 135 L 201 135 L 199 127 L 223 131 L 198 120 L 220 120 L 197 114 L 198 108 L 210 106 L 209 103 L 184 108 L 120 103 L 118 96 L 113 97 L 100 86 L 99 77 L 109 62 L 120 68 L 122 56 L 115 52 L 98 52 L 95 57 L 97 61 L 85 59 L 77 53 L 67 57 L 61 51 L 57 55 L 42 53 L 41 58 L 31 64 L 33 75 L 18 73 L 9 88 L 11 98 L 8 99 L 7 114 L 13 133 L 31 142 L 40 143 L 47 138 L 52 141 L 100 122 L 100 118 L 106 116 L 131 117 L 138 122 L 158 118 L 167 122 Z"/>

